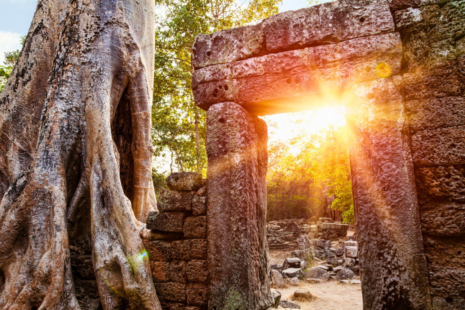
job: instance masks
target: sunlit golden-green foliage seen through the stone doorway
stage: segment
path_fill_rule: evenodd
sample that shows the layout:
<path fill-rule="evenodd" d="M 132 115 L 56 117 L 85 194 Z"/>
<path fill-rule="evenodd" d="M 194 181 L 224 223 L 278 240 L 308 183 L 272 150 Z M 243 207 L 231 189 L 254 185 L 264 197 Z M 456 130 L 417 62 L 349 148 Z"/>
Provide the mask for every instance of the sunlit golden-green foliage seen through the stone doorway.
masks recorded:
<path fill-rule="evenodd" d="M 294 154 L 291 147 L 299 151 Z M 344 222 L 354 222 L 345 126 L 303 132 L 289 141 L 271 144 L 268 150 L 268 221 L 310 218 L 313 210 L 323 206 L 323 190 L 327 189 L 327 195 L 335 198 L 331 207 L 342 211 Z"/>

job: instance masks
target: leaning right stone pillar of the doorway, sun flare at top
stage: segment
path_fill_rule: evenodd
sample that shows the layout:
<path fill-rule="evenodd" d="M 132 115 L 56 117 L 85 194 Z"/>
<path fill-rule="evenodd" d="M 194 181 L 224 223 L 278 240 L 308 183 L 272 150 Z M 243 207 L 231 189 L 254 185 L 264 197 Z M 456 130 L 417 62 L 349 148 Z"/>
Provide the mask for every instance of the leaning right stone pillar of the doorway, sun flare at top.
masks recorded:
<path fill-rule="evenodd" d="M 346 106 L 363 309 L 425 310 L 431 300 L 408 121 L 393 80 L 353 86 Z"/>

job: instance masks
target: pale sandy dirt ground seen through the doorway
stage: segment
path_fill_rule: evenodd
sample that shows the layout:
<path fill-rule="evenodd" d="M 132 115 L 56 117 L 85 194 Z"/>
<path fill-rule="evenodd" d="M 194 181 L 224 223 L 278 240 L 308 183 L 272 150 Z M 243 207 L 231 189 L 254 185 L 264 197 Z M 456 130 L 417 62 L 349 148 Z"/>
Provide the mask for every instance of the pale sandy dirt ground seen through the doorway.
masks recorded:
<path fill-rule="evenodd" d="M 353 233 L 353 232 L 352 232 Z M 350 235 L 352 235 L 352 233 Z M 348 234 L 349 235 L 349 234 Z M 341 247 L 340 241 L 332 243 L 335 248 Z M 270 250 L 270 264 L 282 265 L 284 259 L 291 256 L 291 251 Z M 324 263 L 318 258 L 312 262 L 314 266 Z M 359 280 L 360 277 L 357 277 Z M 292 295 L 297 289 L 307 289 L 316 296 L 311 301 L 293 301 Z M 362 290 L 360 284 L 342 284 L 337 281 L 330 280 L 328 282 L 315 284 L 301 281 L 299 286 L 288 286 L 286 288 L 277 288 L 281 292 L 281 300 L 287 299 L 293 303 L 300 305 L 302 310 L 362 310 Z"/>

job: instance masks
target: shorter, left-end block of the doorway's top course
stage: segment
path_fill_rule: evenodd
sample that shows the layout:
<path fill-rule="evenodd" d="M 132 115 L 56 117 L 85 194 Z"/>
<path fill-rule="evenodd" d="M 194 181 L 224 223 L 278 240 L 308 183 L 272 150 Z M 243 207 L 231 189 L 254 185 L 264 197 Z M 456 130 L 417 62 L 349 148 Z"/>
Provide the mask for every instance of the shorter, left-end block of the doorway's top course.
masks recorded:
<path fill-rule="evenodd" d="M 192 50 L 195 69 L 225 64 L 265 55 L 265 35 L 260 24 L 198 34 Z"/>

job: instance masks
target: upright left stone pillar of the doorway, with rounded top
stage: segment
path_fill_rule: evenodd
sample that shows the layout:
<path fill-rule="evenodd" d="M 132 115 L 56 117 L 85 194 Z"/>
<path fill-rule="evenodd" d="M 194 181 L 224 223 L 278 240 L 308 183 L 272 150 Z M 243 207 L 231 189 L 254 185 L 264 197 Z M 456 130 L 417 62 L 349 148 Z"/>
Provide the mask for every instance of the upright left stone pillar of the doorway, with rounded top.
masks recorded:
<path fill-rule="evenodd" d="M 272 304 L 266 244 L 267 126 L 224 102 L 206 112 L 209 310 Z"/>

